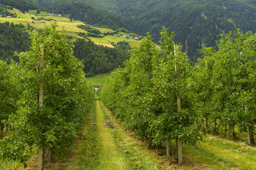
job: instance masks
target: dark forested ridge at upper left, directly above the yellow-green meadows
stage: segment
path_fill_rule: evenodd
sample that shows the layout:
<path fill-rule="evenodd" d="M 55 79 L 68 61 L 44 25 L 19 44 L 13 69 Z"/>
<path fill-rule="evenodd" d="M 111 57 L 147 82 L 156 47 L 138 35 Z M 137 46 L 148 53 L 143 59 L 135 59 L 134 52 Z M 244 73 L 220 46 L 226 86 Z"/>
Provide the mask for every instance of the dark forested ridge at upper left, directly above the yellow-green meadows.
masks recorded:
<path fill-rule="evenodd" d="M 111 11 L 100 10 L 91 6 L 90 3 L 84 3 L 77 0 L 30 0 L 42 8 L 52 13 L 61 13 L 68 15 L 72 19 L 81 20 L 91 25 L 108 26 L 112 29 L 119 27 L 130 28 L 128 24 Z"/>

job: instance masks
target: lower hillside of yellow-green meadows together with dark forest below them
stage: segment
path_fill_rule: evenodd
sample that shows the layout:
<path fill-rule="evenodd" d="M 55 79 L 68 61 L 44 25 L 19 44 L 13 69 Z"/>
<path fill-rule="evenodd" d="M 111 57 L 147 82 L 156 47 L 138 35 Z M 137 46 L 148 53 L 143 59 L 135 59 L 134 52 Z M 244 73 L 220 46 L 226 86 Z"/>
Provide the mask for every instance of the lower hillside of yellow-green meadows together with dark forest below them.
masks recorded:
<path fill-rule="evenodd" d="M 31 42 L 24 32 L 24 25 L 28 24 L 29 27 L 42 29 L 45 25 L 54 24 L 53 21 L 56 21 L 58 31 L 63 30 L 64 27 L 69 36 L 77 38 L 74 42 L 74 56 L 83 60 L 84 73 L 87 76 L 109 73 L 116 67 L 123 66 L 123 62 L 129 59 L 129 53 L 126 49 L 131 49 L 131 46 L 140 43 L 138 39 L 127 39 L 129 36 L 136 36 L 136 34 L 125 29 L 113 31 L 106 27 L 93 27 L 62 16 L 49 16 L 49 13 L 45 11 L 29 10 L 22 13 L 16 8 L 11 10 L 4 8 L 4 6 L 1 9 L 7 10 L 8 15 L 13 14 L 12 16 L 0 17 L 0 40 L 3 42 L 0 46 L 0 58 L 4 60 L 12 58 L 19 61 L 13 53 L 15 51 L 18 53 L 25 52 L 29 49 Z M 120 36 L 122 34 L 127 35 L 127 38 Z"/>

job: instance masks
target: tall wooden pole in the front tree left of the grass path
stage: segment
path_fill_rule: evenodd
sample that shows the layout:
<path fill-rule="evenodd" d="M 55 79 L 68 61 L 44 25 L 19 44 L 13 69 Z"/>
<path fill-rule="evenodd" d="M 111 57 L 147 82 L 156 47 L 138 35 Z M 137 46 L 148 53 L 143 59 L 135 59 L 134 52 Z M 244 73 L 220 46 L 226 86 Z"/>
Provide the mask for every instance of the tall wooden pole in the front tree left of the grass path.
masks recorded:
<path fill-rule="evenodd" d="M 42 44 L 40 46 L 40 52 L 41 52 L 41 57 L 40 57 L 40 63 L 39 63 L 39 73 L 41 73 L 41 69 L 44 66 L 44 45 Z M 41 112 L 43 106 L 43 101 L 44 101 L 44 84 L 43 84 L 43 78 L 40 78 L 39 80 L 39 96 L 38 96 L 38 108 L 39 111 Z M 40 115 L 40 114 L 39 114 Z M 40 120 L 39 120 L 40 121 Z M 42 122 L 39 122 L 38 124 L 38 131 L 40 135 L 42 135 Z M 39 137 L 39 143 L 42 139 Z M 45 155 L 45 148 L 42 146 L 38 147 L 38 170 L 44 170 L 44 155 Z"/>

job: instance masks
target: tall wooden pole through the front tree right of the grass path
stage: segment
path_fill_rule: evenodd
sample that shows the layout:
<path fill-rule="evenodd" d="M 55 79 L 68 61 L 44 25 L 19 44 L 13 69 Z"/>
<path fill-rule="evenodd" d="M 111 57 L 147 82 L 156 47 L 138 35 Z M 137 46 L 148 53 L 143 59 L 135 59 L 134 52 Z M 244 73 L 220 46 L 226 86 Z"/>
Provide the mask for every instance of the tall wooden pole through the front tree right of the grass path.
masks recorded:
<path fill-rule="evenodd" d="M 174 45 L 174 55 L 176 56 L 177 55 L 177 46 Z M 178 80 L 179 78 L 179 67 L 176 65 L 175 66 L 175 73 L 176 73 L 176 81 Z M 177 84 L 177 111 L 179 113 L 179 111 L 181 110 L 181 104 L 180 104 L 180 86 L 179 84 Z M 182 141 L 177 138 L 177 159 L 179 161 L 179 165 L 182 164 Z"/>

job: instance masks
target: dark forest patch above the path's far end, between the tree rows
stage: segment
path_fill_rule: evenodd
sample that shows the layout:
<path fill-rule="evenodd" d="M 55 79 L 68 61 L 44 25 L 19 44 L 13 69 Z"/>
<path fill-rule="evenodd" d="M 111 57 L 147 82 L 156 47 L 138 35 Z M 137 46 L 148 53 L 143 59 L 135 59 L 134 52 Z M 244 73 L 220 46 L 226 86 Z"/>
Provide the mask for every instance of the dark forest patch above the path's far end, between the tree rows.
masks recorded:
<path fill-rule="evenodd" d="M 83 60 L 84 72 L 87 76 L 109 73 L 118 66 L 124 66 L 124 61 L 129 59 L 129 53 L 123 44 L 117 45 L 120 48 L 109 48 L 95 45 L 92 41 L 77 39 L 74 43 L 74 55 Z"/>

